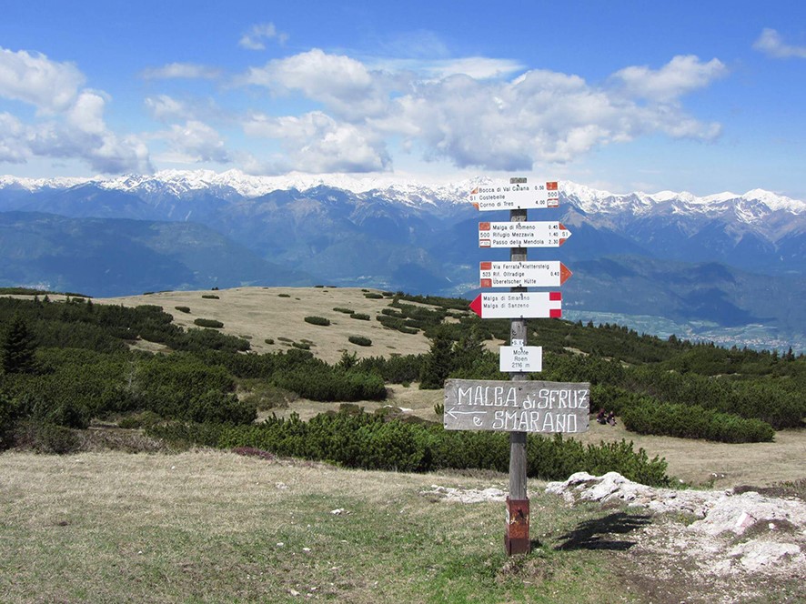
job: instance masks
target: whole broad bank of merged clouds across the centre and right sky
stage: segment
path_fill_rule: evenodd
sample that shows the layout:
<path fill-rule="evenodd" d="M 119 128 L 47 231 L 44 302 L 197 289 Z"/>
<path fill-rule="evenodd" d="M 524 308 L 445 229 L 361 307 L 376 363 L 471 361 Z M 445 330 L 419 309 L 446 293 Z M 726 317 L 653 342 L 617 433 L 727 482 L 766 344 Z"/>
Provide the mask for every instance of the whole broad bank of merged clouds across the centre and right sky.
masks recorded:
<path fill-rule="evenodd" d="M 270 61 L 251 69 L 241 83 L 304 96 L 321 110 L 253 117 L 244 129 L 276 138 L 296 169 L 307 171 L 387 168 L 383 141 L 391 138 L 426 159 L 515 170 L 569 162 L 639 136 L 712 140 L 720 134 L 719 124 L 690 116 L 681 101 L 727 74 L 718 59 L 676 56 L 660 69 L 631 66 L 605 86 L 548 70 L 507 79 L 503 75 L 520 71 L 520 65 L 494 59 L 427 65 L 370 68 L 319 49 Z"/>

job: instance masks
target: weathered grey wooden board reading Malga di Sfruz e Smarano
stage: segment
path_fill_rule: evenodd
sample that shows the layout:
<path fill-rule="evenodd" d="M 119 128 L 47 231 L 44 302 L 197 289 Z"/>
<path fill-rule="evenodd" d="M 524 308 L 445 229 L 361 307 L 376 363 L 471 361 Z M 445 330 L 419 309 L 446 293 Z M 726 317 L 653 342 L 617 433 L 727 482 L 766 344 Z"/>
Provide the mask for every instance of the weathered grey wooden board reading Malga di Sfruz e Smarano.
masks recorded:
<path fill-rule="evenodd" d="M 443 425 L 448 430 L 585 432 L 590 384 L 448 379 Z"/>

